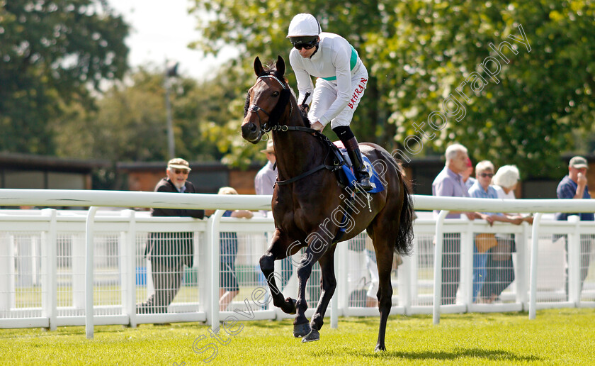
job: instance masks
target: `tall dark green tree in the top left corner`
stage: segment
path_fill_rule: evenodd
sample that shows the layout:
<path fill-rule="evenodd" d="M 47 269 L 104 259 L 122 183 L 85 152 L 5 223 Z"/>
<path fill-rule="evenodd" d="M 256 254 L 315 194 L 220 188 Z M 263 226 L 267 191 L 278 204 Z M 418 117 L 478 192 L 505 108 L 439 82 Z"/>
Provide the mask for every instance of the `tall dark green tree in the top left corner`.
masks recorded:
<path fill-rule="evenodd" d="M 55 153 L 49 121 L 123 77 L 126 35 L 105 0 L 0 0 L 0 150 Z"/>

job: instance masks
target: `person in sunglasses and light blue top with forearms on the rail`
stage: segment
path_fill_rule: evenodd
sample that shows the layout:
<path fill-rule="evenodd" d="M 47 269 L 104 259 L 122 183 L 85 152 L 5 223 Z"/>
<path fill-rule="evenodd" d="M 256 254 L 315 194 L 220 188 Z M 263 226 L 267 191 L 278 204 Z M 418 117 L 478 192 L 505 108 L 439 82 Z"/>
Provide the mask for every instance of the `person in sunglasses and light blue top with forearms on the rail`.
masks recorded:
<path fill-rule="evenodd" d="M 475 177 L 477 178 L 477 182 L 469 189 L 470 196 L 487 199 L 498 198 L 496 189 L 489 185 L 492 183 L 492 177 L 494 177 L 494 165 L 492 162 L 488 160 L 478 162 L 475 166 Z M 520 216 L 513 220 L 504 214 L 494 214 L 492 212 L 482 212 L 478 216 L 487 221 L 490 226 L 494 224 L 494 221 L 516 223 L 516 225 L 522 222 Z M 473 301 L 476 301 L 477 295 L 480 293 L 487 277 L 486 261 L 488 250 L 491 250 L 495 246 L 497 246 L 497 240 L 494 234 L 478 234 L 475 236 L 475 245 L 473 245 Z"/>

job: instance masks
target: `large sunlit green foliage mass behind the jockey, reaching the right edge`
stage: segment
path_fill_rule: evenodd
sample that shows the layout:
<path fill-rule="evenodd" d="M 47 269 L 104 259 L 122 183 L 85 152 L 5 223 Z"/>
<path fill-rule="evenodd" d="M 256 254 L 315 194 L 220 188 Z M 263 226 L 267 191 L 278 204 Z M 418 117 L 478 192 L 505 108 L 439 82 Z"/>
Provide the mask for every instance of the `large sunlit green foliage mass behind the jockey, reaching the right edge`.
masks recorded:
<path fill-rule="evenodd" d="M 592 131 L 594 1 L 195 2 L 195 11 L 210 13 L 195 46 L 216 54 L 225 43 L 235 45 L 246 70 L 256 55 L 287 59 L 290 19 L 313 13 L 323 30 L 353 44 L 370 72 L 352 123 L 359 140 L 392 150 L 417 136 L 423 146 L 409 145 L 409 157 L 443 153 L 456 141 L 475 160 L 518 165 L 523 177 L 556 176 L 558 155 L 575 147 L 572 132 Z M 508 38 L 519 37 L 520 26 L 531 52 Z M 449 94 L 458 95 L 455 88 L 496 55 L 489 43 L 504 40 L 519 47 L 517 55 L 504 51 L 509 63 L 500 62 L 499 82 L 482 72 L 488 84 L 477 92 L 467 87 L 469 100 L 460 101 L 465 117 L 448 116 L 444 128 L 430 131 L 435 137 L 421 138 L 419 124 L 427 131 L 430 114 L 444 112 Z M 293 75 L 289 80 L 295 85 Z"/>

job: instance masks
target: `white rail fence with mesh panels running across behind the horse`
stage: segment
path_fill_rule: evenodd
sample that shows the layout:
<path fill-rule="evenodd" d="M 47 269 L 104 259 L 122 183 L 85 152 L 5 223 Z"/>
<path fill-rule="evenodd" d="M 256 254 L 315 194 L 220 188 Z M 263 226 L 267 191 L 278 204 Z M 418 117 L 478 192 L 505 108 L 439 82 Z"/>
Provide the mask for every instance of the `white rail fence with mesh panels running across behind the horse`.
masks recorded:
<path fill-rule="evenodd" d="M 270 209 L 270 196 L 177 195 L 152 192 L 102 192 L 0 189 L 3 206 L 88 206 L 89 211 L 0 210 L 0 328 L 207 321 L 214 329 L 219 311 L 220 232 L 237 233 L 235 260 L 239 294 L 227 308 L 253 319 L 289 317 L 268 304 L 268 287 L 258 266 L 273 231 L 271 218 L 222 218 L 225 209 Z M 417 210 L 504 212 L 593 212 L 595 201 L 496 200 L 415 196 Z M 98 206 L 219 209 L 205 220 L 152 218 L 146 211 L 101 211 Z M 483 221 L 419 218 L 414 223 L 414 250 L 392 272 L 391 314 L 465 311 L 529 311 L 553 307 L 595 307 L 595 260 L 591 243 L 595 223 L 577 220 L 540 221 L 512 226 Z M 186 267 L 180 292 L 166 312 L 137 314 L 136 304 L 152 293 L 150 263 L 144 250 L 151 233 L 193 233 L 194 265 Z M 460 235 L 460 286 L 454 304 L 441 304 L 443 233 Z M 515 279 L 494 304 L 473 301 L 475 233 L 514 234 Z M 537 238 L 537 240 L 533 240 Z M 338 316 L 377 316 L 365 306 L 370 284 L 365 234 L 339 243 L 336 250 L 337 291 L 331 301 L 331 326 Z M 368 248 L 369 247 L 368 243 Z M 351 248 L 351 249 L 349 249 Z M 356 249 L 356 250 L 352 250 Z M 293 262 L 299 260 L 299 253 Z M 280 261 L 276 273 L 288 281 L 285 296 L 297 295 L 295 265 Z M 587 278 L 581 285 L 582 274 Z M 568 280 L 568 284 L 566 284 Z M 307 289 L 311 316 L 319 294 L 319 272 Z M 237 315 L 237 314 L 236 314 Z"/>

